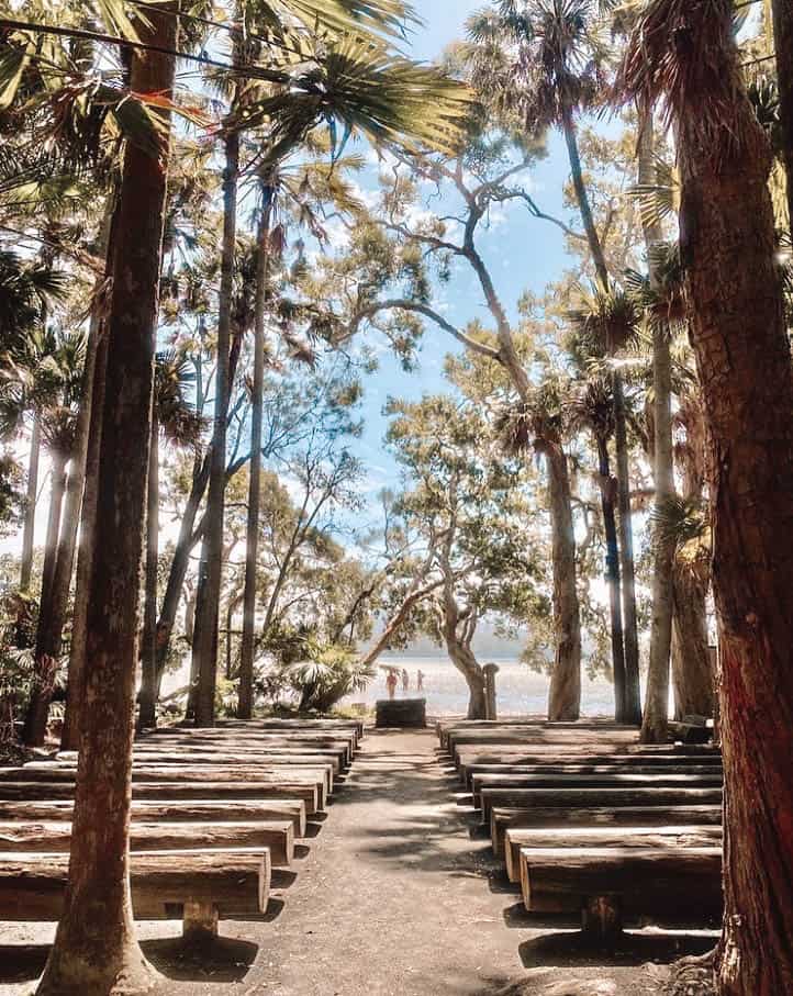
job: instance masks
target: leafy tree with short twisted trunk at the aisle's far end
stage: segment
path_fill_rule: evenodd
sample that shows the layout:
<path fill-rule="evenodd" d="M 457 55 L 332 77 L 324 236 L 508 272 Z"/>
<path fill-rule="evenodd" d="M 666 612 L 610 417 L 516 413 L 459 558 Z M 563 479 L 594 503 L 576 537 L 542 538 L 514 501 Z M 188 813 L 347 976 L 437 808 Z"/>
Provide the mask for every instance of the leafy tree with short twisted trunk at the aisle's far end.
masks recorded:
<path fill-rule="evenodd" d="M 443 639 L 469 690 L 468 718 L 485 713 L 484 672 L 473 650 L 479 624 L 520 625 L 538 601 L 537 561 L 520 460 L 501 451 L 470 402 L 450 395 L 391 402 L 388 439 L 406 472 L 402 515 L 434 551 L 439 575 L 431 633 Z M 425 581 L 429 578 L 425 577 Z"/>

